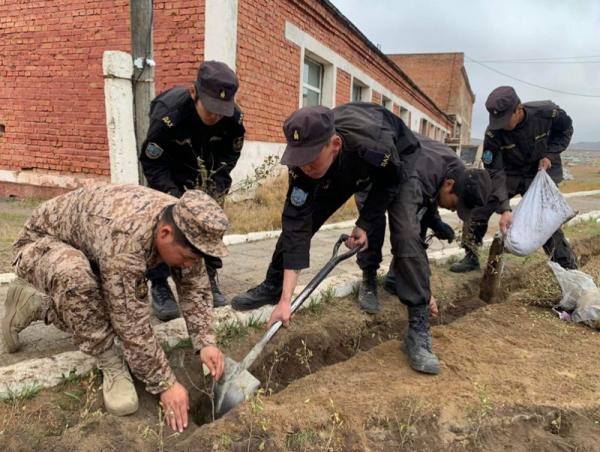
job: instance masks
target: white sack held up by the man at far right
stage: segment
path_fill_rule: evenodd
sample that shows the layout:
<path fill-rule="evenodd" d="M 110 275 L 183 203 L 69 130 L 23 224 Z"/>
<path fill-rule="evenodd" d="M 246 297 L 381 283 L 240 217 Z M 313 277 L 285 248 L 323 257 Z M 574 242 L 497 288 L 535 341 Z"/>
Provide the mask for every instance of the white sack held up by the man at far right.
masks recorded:
<path fill-rule="evenodd" d="M 545 170 L 539 170 L 513 212 L 504 248 L 517 256 L 528 256 L 574 216 L 575 211 L 550 176 Z"/>

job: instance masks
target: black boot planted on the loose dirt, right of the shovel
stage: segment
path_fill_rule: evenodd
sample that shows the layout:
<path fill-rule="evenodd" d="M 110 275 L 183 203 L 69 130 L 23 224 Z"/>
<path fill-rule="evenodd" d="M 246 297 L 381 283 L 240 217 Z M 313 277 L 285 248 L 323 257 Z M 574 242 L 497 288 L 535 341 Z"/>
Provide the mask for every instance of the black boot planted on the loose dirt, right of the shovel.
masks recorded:
<path fill-rule="evenodd" d="M 440 362 L 431 351 L 429 306 L 408 307 L 408 330 L 404 338 L 404 351 L 410 367 L 426 374 L 438 374 Z"/>

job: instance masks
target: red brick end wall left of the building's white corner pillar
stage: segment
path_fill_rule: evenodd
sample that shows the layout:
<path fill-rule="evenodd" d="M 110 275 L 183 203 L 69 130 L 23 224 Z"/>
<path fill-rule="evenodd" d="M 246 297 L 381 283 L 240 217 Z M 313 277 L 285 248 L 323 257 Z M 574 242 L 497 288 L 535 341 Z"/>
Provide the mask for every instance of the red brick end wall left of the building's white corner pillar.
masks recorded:
<path fill-rule="evenodd" d="M 204 2 L 154 3 L 159 92 L 195 78 Z M 107 176 L 102 54 L 131 51 L 129 1 L 5 0 L 1 9 L 0 169 Z"/>

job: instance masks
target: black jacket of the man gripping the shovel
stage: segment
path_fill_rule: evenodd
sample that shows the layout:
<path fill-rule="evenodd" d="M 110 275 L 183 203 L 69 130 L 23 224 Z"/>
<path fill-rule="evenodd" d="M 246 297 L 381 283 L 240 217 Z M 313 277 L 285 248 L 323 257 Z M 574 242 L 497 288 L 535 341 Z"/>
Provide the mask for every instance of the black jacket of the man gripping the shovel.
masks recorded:
<path fill-rule="evenodd" d="M 398 185 L 406 179 L 405 160 L 418 141 L 402 120 L 382 106 L 350 103 L 334 109 L 342 149 L 318 180 L 300 168 L 290 168 L 289 189 L 282 215 L 283 268 L 309 266 L 314 216 L 332 214 L 353 193 L 371 188 L 356 224 L 364 230 L 384 215 Z M 323 220 L 324 221 L 324 220 Z"/>

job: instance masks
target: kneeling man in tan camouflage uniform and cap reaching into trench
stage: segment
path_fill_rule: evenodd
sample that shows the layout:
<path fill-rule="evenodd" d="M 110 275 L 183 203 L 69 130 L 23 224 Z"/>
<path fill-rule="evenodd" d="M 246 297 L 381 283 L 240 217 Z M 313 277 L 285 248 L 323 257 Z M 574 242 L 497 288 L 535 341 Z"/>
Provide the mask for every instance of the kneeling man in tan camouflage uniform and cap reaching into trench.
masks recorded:
<path fill-rule="evenodd" d="M 152 394 L 160 394 L 169 426 L 187 427 L 189 398 L 175 378 L 150 325 L 149 268 L 173 268 L 179 303 L 194 350 L 213 378 L 223 355 L 212 328 L 212 297 L 205 256 L 225 256 L 228 226 L 219 205 L 198 190 L 181 199 L 150 188 L 105 185 L 75 190 L 45 202 L 27 221 L 15 245 L 15 271 L 23 282 L 6 299 L 2 334 L 19 348 L 18 333 L 44 320 L 73 334 L 75 344 L 97 358 L 106 410 L 138 407 L 125 361 Z"/>

